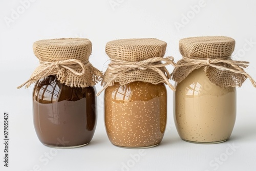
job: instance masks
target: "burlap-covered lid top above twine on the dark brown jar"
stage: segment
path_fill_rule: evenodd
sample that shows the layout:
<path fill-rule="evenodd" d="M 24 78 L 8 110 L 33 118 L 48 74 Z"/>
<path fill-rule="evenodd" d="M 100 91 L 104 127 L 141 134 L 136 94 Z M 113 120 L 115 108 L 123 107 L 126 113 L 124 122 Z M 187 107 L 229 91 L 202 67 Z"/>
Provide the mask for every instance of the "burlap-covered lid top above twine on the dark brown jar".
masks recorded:
<path fill-rule="evenodd" d="M 34 42 L 33 51 L 41 61 L 77 59 L 86 61 L 92 52 L 92 43 L 87 38 L 45 39 Z"/>

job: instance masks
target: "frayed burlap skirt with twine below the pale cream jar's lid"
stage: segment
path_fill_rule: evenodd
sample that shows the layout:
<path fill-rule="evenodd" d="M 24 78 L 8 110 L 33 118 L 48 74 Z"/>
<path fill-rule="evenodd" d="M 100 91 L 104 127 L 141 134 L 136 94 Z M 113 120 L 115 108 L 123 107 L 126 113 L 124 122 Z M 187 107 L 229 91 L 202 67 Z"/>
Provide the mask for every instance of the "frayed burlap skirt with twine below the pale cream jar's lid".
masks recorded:
<path fill-rule="evenodd" d="M 241 87 L 247 78 L 250 79 L 253 87 L 256 87 L 256 82 L 244 71 L 249 62 L 234 61 L 229 57 L 227 57 L 228 60 L 223 58 L 183 58 L 177 62 L 172 73 L 172 79 L 178 83 L 194 70 L 204 67 L 204 72 L 210 82 L 220 88 Z"/>

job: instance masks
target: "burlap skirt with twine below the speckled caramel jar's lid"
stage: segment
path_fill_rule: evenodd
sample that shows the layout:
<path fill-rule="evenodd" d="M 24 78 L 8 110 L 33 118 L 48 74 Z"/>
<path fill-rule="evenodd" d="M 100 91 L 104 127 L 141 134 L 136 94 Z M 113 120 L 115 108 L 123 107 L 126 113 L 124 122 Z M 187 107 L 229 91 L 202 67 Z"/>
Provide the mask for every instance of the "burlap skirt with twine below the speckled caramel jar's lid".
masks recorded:
<path fill-rule="evenodd" d="M 164 61 L 164 63 L 162 63 L 162 61 Z M 174 57 L 153 57 L 137 62 L 112 59 L 101 82 L 103 89 L 100 90 L 96 96 L 107 87 L 113 86 L 115 82 L 118 82 L 121 86 L 134 81 L 153 84 L 165 83 L 170 89 L 175 91 L 175 87 L 168 81 L 171 77 L 165 67 L 168 65 L 176 66 Z"/>

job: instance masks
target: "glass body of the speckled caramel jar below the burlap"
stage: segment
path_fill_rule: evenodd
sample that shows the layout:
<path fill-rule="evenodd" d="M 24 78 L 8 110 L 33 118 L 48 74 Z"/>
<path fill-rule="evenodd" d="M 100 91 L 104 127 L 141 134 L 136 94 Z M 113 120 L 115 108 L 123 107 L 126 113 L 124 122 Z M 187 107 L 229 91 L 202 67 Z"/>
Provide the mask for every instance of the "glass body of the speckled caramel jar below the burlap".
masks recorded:
<path fill-rule="evenodd" d="M 105 89 L 105 128 L 112 144 L 127 148 L 158 145 L 167 117 L 164 83 L 118 82 Z"/>

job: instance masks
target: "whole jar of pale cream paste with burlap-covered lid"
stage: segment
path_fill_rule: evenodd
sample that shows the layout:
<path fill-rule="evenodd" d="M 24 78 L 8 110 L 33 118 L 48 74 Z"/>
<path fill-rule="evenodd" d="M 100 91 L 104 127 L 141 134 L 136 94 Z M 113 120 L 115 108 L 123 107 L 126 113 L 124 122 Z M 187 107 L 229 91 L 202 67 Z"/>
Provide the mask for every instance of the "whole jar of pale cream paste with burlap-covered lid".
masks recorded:
<path fill-rule="evenodd" d="M 174 120 L 181 139 L 211 144 L 224 142 L 231 136 L 236 121 L 237 84 L 233 83 L 237 75 L 211 67 L 232 68 L 210 59 L 231 60 L 234 44 L 232 38 L 223 36 L 180 40 L 183 59 L 177 62 L 181 67 L 174 70 Z M 184 56 L 193 59 L 190 65 L 187 65 L 189 61 L 183 61 Z M 202 63 L 198 61 L 201 59 Z"/>

